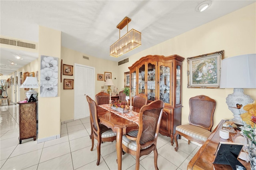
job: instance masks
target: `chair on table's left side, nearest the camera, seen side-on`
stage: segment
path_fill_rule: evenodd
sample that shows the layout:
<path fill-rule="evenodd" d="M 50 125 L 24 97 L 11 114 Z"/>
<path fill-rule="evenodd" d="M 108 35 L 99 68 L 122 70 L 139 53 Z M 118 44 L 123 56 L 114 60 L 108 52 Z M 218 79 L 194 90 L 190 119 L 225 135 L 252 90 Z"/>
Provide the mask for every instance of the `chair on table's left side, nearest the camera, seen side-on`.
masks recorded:
<path fill-rule="evenodd" d="M 102 142 L 112 142 L 116 140 L 116 132 L 113 132 L 111 128 L 102 125 L 98 121 L 98 112 L 97 112 L 97 105 L 94 100 L 92 100 L 89 96 L 86 96 L 86 99 L 89 104 L 90 109 L 90 119 L 92 120 L 92 148 L 94 147 L 94 138 L 98 140 L 97 144 L 97 153 L 98 153 L 98 160 L 96 165 L 100 164 L 100 145 Z"/>

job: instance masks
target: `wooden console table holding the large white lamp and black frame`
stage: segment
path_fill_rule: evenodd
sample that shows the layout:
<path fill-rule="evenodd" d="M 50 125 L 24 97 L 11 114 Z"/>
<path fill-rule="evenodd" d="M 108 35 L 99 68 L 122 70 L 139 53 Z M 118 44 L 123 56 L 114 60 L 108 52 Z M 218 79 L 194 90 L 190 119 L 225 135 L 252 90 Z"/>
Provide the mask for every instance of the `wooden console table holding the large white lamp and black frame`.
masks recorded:
<path fill-rule="evenodd" d="M 219 142 L 234 142 L 237 136 L 241 136 L 239 130 L 237 133 L 230 133 L 230 138 L 225 140 L 220 138 L 219 131 L 222 129 L 222 124 L 225 120 L 220 121 L 219 125 L 214 129 L 212 134 L 208 137 L 206 142 L 198 150 L 195 156 L 188 163 L 188 170 L 232 170 L 230 165 L 212 164 L 215 158 L 215 151 Z M 250 163 L 238 158 L 238 160 L 246 167 L 246 170 L 250 170 Z"/>

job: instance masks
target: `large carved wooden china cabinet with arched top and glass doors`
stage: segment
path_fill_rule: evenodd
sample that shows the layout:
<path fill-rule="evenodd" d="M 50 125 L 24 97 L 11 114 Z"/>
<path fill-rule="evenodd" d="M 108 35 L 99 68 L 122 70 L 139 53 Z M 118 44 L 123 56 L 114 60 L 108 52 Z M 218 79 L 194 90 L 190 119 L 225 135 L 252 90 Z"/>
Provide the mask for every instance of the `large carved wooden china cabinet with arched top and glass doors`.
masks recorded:
<path fill-rule="evenodd" d="M 183 60 L 184 57 L 179 55 L 147 55 L 128 67 L 132 97 L 144 93 L 148 97 L 148 103 L 164 101 L 159 132 L 170 136 L 172 145 L 175 128 L 181 125 Z"/>

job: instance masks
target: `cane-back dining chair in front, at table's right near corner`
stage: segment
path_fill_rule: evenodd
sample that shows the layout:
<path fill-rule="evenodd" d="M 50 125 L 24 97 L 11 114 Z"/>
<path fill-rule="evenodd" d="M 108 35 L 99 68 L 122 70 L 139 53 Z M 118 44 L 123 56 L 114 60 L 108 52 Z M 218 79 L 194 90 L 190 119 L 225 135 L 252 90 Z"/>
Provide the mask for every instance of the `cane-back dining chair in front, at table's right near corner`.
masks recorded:
<path fill-rule="evenodd" d="M 156 100 L 142 106 L 139 115 L 139 129 L 123 135 L 122 149 L 128 154 L 136 156 L 136 170 L 140 167 L 140 157 L 154 151 L 154 166 L 157 167 L 156 142 L 162 119 L 164 102 Z"/>

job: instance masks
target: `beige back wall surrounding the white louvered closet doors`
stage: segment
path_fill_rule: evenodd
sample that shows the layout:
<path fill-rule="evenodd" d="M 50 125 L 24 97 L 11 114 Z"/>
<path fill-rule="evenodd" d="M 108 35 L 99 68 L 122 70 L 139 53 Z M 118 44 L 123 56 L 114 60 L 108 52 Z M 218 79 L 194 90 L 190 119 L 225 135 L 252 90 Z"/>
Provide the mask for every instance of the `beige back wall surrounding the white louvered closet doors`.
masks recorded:
<path fill-rule="evenodd" d="M 88 56 L 88 59 L 83 58 L 83 53 L 68 49 L 66 47 L 61 48 L 61 59 L 63 64 L 73 65 L 75 63 L 94 67 L 95 68 L 95 94 L 99 93 L 101 90 L 107 90 L 107 87 L 104 86 L 105 81 L 98 81 L 97 74 L 104 74 L 104 72 L 112 73 L 113 83 L 118 86 L 118 63 L 114 61 L 109 61 L 105 59 L 99 59 L 96 57 Z M 116 79 L 114 79 L 116 78 Z M 62 83 L 60 88 L 61 99 L 60 99 L 60 118 L 61 121 L 70 121 L 74 119 L 74 89 L 73 90 L 64 90 L 63 89 L 63 79 L 74 79 L 70 75 L 62 75 Z M 74 79 L 74 85 L 76 80 Z M 104 89 L 101 89 L 101 86 L 104 86 Z M 113 90 L 113 87 L 111 87 Z"/>

